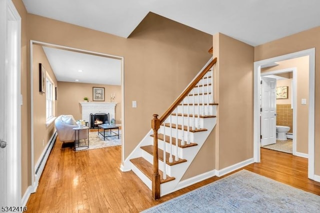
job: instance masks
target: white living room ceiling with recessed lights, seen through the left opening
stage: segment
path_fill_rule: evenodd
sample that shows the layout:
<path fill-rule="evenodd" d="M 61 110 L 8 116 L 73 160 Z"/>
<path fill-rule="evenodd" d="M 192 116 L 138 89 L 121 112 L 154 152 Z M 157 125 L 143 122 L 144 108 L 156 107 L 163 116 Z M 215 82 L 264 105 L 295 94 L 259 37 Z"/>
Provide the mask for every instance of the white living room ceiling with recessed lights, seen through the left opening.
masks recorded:
<path fill-rule="evenodd" d="M 121 85 L 120 60 L 46 46 L 42 48 L 57 81 Z"/>

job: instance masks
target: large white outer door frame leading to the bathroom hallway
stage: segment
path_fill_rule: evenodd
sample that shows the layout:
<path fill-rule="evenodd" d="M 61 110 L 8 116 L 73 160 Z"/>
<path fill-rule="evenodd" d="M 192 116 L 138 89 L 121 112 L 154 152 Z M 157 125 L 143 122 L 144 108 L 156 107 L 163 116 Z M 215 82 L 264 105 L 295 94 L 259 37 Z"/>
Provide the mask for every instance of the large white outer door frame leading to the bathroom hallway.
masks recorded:
<path fill-rule="evenodd" d="M 254 115 L 253 115 L 253 159 L 260 162 L 260 69 L 261 65 L 301 56 L 309 56 L 309 113 L 308 113 L 308 178 L 314 179 L 314 73 L 315 48 L 305 49 L 254 62 Z"/>

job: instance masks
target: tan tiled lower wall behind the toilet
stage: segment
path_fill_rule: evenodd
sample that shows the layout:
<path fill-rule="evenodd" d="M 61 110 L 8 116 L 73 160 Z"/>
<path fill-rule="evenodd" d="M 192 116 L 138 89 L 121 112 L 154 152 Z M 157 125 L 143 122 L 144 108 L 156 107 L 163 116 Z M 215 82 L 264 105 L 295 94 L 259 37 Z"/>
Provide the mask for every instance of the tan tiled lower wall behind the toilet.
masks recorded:
<path fill-rule="evenodd" d="M 288 132 L 292 133 L 291 104 L 276 104 L 276 125 L 290 126 Z"/>

